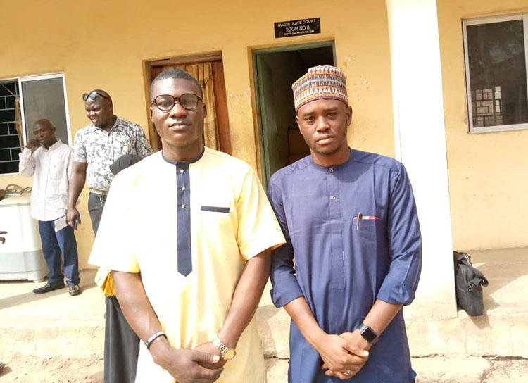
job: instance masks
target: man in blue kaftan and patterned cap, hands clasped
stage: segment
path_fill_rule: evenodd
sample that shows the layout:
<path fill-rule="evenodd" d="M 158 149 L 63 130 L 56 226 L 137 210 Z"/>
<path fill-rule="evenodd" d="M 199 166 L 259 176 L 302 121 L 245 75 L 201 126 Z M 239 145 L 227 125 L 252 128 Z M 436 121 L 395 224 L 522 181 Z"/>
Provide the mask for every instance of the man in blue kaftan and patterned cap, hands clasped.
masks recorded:
<path fill-rule="evenodd" d="M 272 253 L 272 300 L 291 315 L 289 382 L 414 382 L 401 306 L 413 301 L 422 241 L 401 163 L 350 149 L 341 70 L 294 83 L 310 156 L 268 195 L 287 244 Z"/>

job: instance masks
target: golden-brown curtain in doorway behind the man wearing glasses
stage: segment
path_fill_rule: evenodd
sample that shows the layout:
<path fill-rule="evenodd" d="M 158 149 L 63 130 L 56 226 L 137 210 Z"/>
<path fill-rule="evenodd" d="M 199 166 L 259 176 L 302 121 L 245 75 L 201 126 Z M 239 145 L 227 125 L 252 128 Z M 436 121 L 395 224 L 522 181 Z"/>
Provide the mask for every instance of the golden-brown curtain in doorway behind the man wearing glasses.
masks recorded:
<path fill-rule="evenodd" d="M 220 134 L 215 108 L 215 92 L 213 85 L 213 69 L 210 62 L 194 64 L 166 65 L 162 70 L 178 68 L 194 76 L 200 83 L 203 93 L 203 103 L 206 104 L 207 116 L 203 121 L 203 144 L 208 148 L 220 150 Z"/>

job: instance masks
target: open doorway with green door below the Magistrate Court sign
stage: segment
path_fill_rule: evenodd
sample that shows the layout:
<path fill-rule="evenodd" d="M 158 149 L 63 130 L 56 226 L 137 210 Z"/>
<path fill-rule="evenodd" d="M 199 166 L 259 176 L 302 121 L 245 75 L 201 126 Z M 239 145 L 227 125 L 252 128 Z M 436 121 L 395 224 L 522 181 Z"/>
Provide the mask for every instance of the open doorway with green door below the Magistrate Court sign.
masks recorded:
<path fill-rule="evenodd" d="M 334 42 L 253 51 L 260 166 L 265 187 L 274 172 L 310 154 L 295 121 L 291 84 L 310 67 L 334 63 Z"/>

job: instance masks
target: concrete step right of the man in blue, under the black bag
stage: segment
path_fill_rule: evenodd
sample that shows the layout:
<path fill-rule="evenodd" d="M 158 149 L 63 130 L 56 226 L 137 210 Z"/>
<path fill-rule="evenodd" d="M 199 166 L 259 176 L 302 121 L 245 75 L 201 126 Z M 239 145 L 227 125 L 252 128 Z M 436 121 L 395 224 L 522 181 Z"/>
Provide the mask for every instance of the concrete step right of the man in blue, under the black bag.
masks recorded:
<path fill-rule="evenodd" d="M 439 319 L 413 313 L 406 317 L 411 354 L 528 358 L 528 249 L 467 253 L 489 280 L 484 315 L 458 310 L 456 318 Z"/>

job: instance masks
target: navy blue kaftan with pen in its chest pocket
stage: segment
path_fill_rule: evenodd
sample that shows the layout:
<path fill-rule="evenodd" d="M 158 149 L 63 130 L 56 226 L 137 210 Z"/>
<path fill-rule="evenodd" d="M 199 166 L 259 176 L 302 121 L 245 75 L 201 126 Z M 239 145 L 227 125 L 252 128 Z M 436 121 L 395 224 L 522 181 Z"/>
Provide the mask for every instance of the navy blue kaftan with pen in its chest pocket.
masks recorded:
<path fill-rule="evenodd" d="M 341 334 L 353 332 L 376 299 L 413 301 L 422 240 L 401 163 L 351 149 L 346 163 L 323 168 L 308 156 L 277 171 L 268 196 L 287 239 L 272 253 L 275 306 L 304 296 L 320 327 Z M 321 365 L 292 321 L 289 382 L 341 382 L 325 376 Z M 400 310 L 347 382 L 407 383 L 414 377 Z"/>

